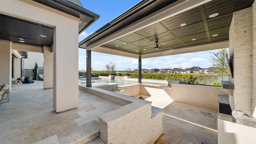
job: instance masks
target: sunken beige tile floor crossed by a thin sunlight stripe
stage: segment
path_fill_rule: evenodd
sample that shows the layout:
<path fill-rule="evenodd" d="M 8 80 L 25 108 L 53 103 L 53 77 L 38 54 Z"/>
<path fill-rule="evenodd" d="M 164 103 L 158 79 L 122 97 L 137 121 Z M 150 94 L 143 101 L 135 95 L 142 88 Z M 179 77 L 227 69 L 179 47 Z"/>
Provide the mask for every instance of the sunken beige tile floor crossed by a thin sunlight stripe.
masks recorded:
<path fill-rule="evenodd" d="M 163 134 L 155 144 L 216 144 L 217 111 L 172 102 L 163 111 Z"/>

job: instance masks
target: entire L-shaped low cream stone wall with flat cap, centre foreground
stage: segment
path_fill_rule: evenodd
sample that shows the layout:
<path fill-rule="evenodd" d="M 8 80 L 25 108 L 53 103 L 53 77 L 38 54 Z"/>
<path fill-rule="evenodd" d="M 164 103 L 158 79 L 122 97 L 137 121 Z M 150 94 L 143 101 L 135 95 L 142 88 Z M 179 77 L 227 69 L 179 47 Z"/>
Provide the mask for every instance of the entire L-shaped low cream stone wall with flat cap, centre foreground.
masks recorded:
<path fill-rule="evenodd" d="M 122 105 L 98 116 L 100 139 L 105 144 L 153 144 L 162 134 L 162 109 L 151 102 L 95 87 L 79 90 Z"/>

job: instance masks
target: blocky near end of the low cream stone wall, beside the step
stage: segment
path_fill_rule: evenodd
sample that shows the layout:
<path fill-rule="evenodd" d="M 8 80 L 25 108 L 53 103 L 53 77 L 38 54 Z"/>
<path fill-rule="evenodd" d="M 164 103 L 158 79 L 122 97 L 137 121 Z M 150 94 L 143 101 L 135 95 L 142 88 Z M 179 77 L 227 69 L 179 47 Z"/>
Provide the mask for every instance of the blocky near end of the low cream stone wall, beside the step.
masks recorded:
<path fill-rule="evenodd" d="M 105 144 L 154 144 L 162 134 L 162 112 L 152 117 L 151 104 L 136 110 L 129 105 L 98 116 L 100 139 Z"/>

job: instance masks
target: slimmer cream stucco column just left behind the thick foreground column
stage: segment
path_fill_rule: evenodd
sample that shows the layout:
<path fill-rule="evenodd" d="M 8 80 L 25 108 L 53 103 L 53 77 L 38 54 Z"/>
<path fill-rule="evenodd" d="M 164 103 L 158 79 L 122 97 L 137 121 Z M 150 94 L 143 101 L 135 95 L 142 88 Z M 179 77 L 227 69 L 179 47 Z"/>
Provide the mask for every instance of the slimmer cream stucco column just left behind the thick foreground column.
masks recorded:
<path fill-rule="evenodd" d="M 44 46 L 44 89 L 53 88 L 53 53 Z"/>

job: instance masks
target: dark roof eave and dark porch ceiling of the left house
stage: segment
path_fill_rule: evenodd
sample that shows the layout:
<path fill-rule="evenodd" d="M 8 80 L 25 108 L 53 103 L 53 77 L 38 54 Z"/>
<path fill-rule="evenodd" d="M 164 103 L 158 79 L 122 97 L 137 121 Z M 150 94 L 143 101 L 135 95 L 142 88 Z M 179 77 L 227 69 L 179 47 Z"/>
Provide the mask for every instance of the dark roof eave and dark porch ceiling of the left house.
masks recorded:
<path fill-rule="evenodd" d="M 1 4 L 5 1 L 1 1 Z M 6 1 L 8 2 L 8 1 Z M 33 1 L 22 1 L 28 4 L 37 4 L 46 7 L 56 9 L 66 13 L 65 15 L 71 15 L 79 18 L 78 34 L 82 33 L 92 23 L 98 20 L 99 15 L 90 12 L 81 6 L 78 6 L 68 0 L 33 0 Z M 63 13 L 62 13 L 63 14 Z M 38 16 L 40 17 L 40 16 Z M 8 15 L 8 13 L 2 12 L 0 14 L 0 29 L 1 29 L 1 40 L 8 40 L 14 43 L 22 43 L 31 46 L 52 46 L 54 28 L 38 22 L 31 22 L 22 18 Z M 45 37 L 42 37 L 42 36 Z"/>

